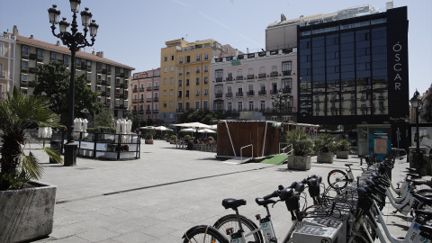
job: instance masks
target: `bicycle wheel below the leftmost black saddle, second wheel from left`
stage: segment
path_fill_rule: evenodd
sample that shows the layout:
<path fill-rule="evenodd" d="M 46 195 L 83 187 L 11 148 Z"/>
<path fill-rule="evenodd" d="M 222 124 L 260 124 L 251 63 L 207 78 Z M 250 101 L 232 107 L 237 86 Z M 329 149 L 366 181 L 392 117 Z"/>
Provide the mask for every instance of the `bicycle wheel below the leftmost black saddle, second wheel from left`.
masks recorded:
<path fill-rule="evenodd" d="M 247 217 L 243 216 L 243 215 L 239 215 L 240 217 L 240 222 L 241 222 L 241 227 L 243 228 L 243 230 L 245 231 L 245 235 L 247 235 L 247 233 L 258 229 L 257 225 L 252 221 L 247 219 Z M 237 220 L 237 215 L 236 214 L 228 214 L 223 216 L 222 218 L 220 218 L 219 220 L 217 220 L 214 224 L 213 227 L 218 229 L 220 232 L 225 233 L 227 229 L 232 228 L 234 229 L 234 232 L 237 232 L 238 230 L 238 220 Z M 253 234 L 251 234 L 250 236 L 248 236 L 246 238 L 246 242 L 249 241 L 253 241 L 253 242 L 257 242 L 257 243 L 264 243 L 264 239 L 263 239 L 263 235 L 261 234 L 261 231 L 257 231 Z"/>

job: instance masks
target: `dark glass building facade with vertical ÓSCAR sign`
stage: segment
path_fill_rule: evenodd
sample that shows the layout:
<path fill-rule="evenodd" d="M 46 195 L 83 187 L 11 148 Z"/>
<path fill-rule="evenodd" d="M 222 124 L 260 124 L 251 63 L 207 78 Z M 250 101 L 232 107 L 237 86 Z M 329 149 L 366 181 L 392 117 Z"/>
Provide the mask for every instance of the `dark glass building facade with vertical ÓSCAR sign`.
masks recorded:
<path fill-rule="evenodd" d="M 410 99 L 407 8 L 299 26 L 298 73 L 299 122 L 403 121 Z"/>

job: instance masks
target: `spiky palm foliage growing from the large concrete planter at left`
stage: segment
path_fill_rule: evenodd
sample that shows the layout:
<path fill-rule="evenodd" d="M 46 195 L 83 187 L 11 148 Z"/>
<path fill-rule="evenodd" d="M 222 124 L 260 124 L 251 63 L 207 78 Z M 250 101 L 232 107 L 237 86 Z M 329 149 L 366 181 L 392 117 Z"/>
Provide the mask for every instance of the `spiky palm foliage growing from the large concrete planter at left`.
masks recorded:
<path fill-rule="evenodd" d="M 14 87 L 13 94 L 7 94 L 6 100 L 0 103 L 0 138 L 3 142 L 0 190 L 15 188 L 18 183 L 39 179 L 42 175 L 43 169 L 38 159 L 31 152 L 25 155 L 23 151 L 27 141 L 25 130 L 35 123 L 40 127 L 58 127 L 58 115 L 49 110 L 49 100 L 46 97 L 22 94 Z M 53 150 L 43 150 L 49 157 L 62 162 Z"/>

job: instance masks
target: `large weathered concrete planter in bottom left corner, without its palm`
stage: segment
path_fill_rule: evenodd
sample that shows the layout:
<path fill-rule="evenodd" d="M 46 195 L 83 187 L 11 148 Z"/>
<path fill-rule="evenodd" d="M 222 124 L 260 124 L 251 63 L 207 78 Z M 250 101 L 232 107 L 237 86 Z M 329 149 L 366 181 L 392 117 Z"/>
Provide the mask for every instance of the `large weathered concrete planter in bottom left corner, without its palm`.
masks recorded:
<path fill-rule="evenodd" d="M 52 232 L 57 186 L 0 191 L 0 242 L 30 241 Z"/>

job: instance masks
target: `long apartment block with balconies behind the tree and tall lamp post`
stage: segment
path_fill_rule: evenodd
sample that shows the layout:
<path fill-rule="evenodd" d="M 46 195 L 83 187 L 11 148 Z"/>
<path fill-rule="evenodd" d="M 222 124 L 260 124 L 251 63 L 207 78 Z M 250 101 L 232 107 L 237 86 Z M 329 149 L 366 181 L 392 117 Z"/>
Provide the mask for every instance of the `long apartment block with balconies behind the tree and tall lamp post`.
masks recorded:
<path fill-rule="evenodd" d="M 70 68 L 70 50 L 56 44 L 51 44 L 31 37 L 19 35 L 14 26 L 13 36 L 16 37 L 16 49 L 14 55 L 14 85 L 20 87 L 23 94 L 32 94 L 35 74 L 38 64 L 47 64 L 57 60 Z M 94 92 L 99 93 L 97 102 L 104 103 L 111 109 L 115 118 L 122 118 L 124 111 L 128 109 L 130 74 L 133 67 L 123 65 L 103 58 L 103 52 L 87 53 L 76 52 L 76 76 L 85 75 L 87 85 Z"/>

